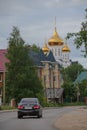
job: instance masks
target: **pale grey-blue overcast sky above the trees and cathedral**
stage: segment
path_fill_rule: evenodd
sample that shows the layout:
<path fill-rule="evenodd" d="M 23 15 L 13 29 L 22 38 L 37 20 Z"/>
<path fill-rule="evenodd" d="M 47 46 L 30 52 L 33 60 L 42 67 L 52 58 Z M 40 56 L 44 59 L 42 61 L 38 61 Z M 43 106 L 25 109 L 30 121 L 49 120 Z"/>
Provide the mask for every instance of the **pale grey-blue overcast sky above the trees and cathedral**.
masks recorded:
<path fill-rule="evenodd" d="M 26 43 L 43 47 L 53 35 L 56 17 L 58 34 L 65 41 L 68 32 L 78 32 L 85 18 L 87 0 L 0 0 L 0 49 L 7 48 L 13 26 Z M 87 68 L 87 59 L 67 41 L 70 58 Z"/>

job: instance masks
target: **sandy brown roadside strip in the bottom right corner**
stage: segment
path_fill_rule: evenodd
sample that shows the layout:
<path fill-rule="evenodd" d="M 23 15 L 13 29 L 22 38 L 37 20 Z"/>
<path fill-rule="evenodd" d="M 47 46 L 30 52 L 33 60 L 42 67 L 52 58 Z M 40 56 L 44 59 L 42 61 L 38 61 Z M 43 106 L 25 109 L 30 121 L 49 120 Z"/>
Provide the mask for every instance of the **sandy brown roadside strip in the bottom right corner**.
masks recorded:
<path fill-rule="evenodd" d="M 55 126 L 59 130 L 87 130 L 87 107 L 78 108 L 61 116 Z"/>

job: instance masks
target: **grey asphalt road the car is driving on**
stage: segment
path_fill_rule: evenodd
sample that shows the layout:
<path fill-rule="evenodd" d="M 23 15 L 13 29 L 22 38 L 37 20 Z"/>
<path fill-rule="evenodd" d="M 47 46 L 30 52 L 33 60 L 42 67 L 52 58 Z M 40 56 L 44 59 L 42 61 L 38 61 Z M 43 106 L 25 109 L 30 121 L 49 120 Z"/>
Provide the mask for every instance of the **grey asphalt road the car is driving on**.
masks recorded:
<path fill-rule="evenodd" d="M 23 119 L 17 119 L 17 112 L 3 112 L 0 113 L 0 130 L 58 130 L 54 127 L 56 119 L 73 109 L 73 107 L 45 109 L 42 118 Z"/>

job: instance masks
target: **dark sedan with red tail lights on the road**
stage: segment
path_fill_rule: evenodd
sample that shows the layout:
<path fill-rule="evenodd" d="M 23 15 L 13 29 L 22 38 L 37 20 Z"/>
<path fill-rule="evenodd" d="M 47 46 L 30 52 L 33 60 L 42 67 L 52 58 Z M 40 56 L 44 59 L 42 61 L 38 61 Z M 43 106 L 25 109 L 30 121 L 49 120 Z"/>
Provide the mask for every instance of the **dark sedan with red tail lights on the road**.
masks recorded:
<path fill-rule="evenodd" d="M 38 98 L 22 98 L 18 104 L 17 116 L 18 118 L 23 116 L 42 117 L 42 107 Z"/>

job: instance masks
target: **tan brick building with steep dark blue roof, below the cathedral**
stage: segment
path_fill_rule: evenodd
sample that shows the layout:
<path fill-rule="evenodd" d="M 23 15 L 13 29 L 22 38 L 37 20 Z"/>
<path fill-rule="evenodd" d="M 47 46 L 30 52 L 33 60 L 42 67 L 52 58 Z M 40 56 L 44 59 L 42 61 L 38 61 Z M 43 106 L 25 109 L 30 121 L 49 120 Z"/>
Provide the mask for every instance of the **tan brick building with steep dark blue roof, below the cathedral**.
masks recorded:
<path fill-rule="evenodd" d="M 44 50 L 44 52 L 43 52 Z M 52 51 L 42 48 L 39 53 L 30 51 L 37 73 L 44 86 L 44 94 L 47 101 L 62 102 L 63 98 L 63 80 L 60 74 L 60 65 L 55 60 Z"/>

